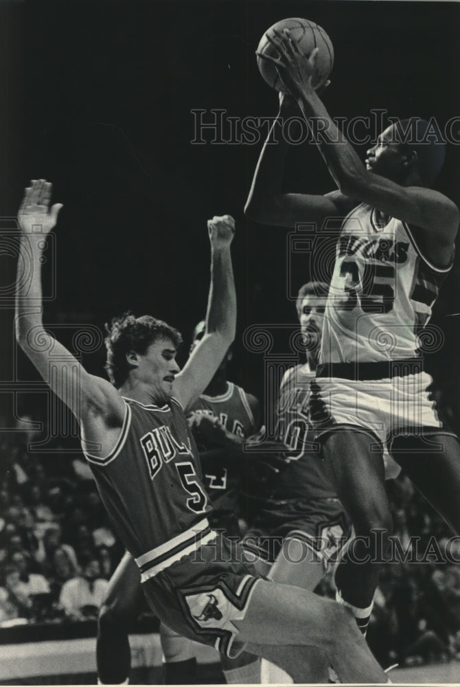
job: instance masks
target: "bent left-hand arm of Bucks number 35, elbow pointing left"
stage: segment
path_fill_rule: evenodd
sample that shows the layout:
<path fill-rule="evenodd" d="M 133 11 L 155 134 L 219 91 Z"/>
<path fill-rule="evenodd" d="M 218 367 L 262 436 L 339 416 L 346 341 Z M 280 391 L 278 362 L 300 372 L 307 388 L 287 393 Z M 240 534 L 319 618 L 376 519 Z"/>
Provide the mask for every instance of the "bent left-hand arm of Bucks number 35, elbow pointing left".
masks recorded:
<path fill-rule="evenodd" d="M 254 221 L 283 227 L 295 227 L 299 222 L 323 223 L 326 217 L 343 217 L 357 203 L 338 190 L 324 196 L 281 192 L 289 146 L 280 124 L 293 115 L 299 115 L 297 105 L 289 95 L 280 93 L 279 113 L 260 153 L 244 212 Z M 275 144 L 273 141 L 277 137 Z"/>

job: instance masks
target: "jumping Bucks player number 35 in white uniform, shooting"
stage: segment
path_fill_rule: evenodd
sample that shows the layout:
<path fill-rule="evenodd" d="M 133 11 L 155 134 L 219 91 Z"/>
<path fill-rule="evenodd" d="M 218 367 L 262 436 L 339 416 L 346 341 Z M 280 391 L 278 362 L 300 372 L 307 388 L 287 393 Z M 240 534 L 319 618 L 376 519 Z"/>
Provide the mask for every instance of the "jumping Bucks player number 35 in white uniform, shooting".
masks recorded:
<path fill-rule="evenodd" d="M 460 533 L 459 440 L 437 417 L 420 352 L 423 328 L 452 267 L 459 210 L 430 188 L 443 166 L 445 144 L 430 135 L 429 122 L 413 117 L 391 124 L 363 164 L 312 87 L 317 50 L 310 58 L 301 54 L 289 32 L 271 41 L 278 58 L 262 58 L 275 63 L 290 93 L 281 97 L 280 114 L 301 112 L 337 190 L 284 194 L 288 146 L 266 145 L 246 212 L 289 227 L 346 215 L 310 418 L 357 535 L 336 571 L 338 598 L 365 631 L 393 527 L 385 448 Z"/>

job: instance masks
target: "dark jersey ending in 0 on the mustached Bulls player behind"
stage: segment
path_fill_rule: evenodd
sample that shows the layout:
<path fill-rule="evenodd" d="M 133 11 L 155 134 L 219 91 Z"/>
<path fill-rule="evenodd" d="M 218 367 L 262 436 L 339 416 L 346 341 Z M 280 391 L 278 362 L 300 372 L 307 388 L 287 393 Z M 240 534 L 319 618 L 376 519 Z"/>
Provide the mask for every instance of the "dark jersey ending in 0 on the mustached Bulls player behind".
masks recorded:
<path fill-rule="evenodd" d="M 275 484 L 275 499 L 323 499 L 336 497 L 325 465 L 313 452 L 314 438 L 308 418 L 310 381 L 314 372 L 308 364 L 296 365 L 286 372 L 279 388 L 277 436 L 289 447 L 289 466 L 281 471 Z"/>

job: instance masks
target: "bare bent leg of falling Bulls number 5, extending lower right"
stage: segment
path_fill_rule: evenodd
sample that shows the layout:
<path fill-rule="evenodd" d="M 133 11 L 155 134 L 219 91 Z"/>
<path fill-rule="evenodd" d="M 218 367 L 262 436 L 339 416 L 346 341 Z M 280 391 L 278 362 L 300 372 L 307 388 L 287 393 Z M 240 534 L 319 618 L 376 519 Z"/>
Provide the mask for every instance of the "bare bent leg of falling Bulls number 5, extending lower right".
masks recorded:
<path fill-rule="evenodd" d="M 248 651 L 279 664 L 295 682 L 305 682 L 308 674 L 310 653 L 304 651 L 305 646 L 324 651 L 342 682 L 388 682 L 349 610 L 299 587 L 260 581 L 253 588 L 244 619 L 234 624 L 238 640 L 248 642 Z M 292 662 L 286 662 L 282 657 L 295 647 Z"/>

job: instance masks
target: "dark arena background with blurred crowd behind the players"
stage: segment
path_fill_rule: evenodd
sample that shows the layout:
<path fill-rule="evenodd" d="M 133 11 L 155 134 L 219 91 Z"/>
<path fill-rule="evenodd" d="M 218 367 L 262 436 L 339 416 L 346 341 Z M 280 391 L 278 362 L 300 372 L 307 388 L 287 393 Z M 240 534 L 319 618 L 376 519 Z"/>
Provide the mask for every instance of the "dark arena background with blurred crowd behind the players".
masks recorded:
<path fill-rule="evenodd" d="M 344 126 L 369 117 L 356 124 L 356 135 L 375 139 L 389 116 L 433 117 L 448 139 L 436 188 L 459 205 L 457 3 L 0 3 L 0 587 L 18 548 L 41 572 L 46 514 L 63 543 L 77 552 L 97 548 L 105 576 L 121 553 L 71 418 L 14 343 L 14 216 L 30 179 L 52 181 L 54 201 L 64 203 L 44 269 L 45 323 L 93 374 L 104 374 L 104 322 L 126 310 L 179 328 L 183 364 L 205 314 L 207 218 L 233 215 L 238 335 L 229 375 L 260 398 L 268 418 L 271 361 L 286 354 L 299 286 L 318 276 L 308 242 L 243 214 L 267 133 L 264 118 L 275 117 L 278 106 L 255 49 L 264 31 L 288 16 L 311 19 L 329 34 L 335 64 L 324 101 Z M 257 122 L 252 137 L 242 134 L 248 117 Z M 213 122 L 214 129 L 201 126 Z M 363 159 L 368 147 L 357 146 Z M 292 145 L 284 183 L 296 192 L 334 188 L 308 140 Z M 325 260 L 325 275 L 331 267 Z M 426 346 L 433 394 L 457 432 L 459 293 L 457 257 L 430 323 L 435 343 Z M 273 336 L 272 348 L 262 342 L 257 350 L 256 325 Z M 295 362 L 291 350 L 288 361 Z M 441 555 L 450 532 L 404 477 L 389 491 L 402 541 L 434 535 L 439 549 L 419 565 L 389 566 L 369 643 L 382 664 L 400 664 L 393 682 L 460 682 L 460 568 Z M 321 592 L 331 592 L 326 583 Z M 148 634 L 156 629 L 146 617 L 135 630 L 135 683 L 160 680 L 158 637 Z M 38 599 L 26 620 L 5 615 L 0 684 L 94 684 L 94 637 L 94 619 L 71 622 L 49 597 Z M 222 682 L 216 655 L 202 650 L 200 657 L 203 682 Z"/>

